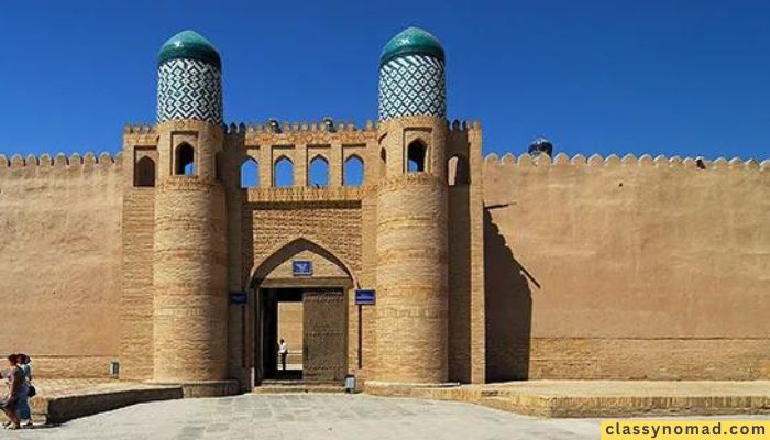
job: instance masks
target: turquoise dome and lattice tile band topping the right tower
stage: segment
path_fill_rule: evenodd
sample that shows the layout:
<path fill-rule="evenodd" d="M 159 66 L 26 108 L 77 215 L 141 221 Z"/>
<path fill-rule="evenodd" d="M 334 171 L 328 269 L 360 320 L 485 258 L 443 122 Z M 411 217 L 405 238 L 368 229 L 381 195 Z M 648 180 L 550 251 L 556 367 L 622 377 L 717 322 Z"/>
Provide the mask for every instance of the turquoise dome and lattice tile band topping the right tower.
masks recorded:
<path fill-rule="evenodd" d="M 378 119 L 447 117 L 444 52 L 419 28 L 394 36 L 380 58 Z"/>

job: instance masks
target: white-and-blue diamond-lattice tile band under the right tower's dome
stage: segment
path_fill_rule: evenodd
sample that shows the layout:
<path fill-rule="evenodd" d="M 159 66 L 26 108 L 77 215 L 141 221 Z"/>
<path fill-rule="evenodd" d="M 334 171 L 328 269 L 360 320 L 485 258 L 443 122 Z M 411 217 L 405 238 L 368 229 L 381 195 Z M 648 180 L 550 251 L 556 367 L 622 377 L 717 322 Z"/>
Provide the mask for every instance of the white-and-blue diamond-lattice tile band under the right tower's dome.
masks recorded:
<path fill-rule="evenodd" d="M 443 62 L 407 55 L 380 68 L 380 121 L 410 116 L 447 117 Z"/>

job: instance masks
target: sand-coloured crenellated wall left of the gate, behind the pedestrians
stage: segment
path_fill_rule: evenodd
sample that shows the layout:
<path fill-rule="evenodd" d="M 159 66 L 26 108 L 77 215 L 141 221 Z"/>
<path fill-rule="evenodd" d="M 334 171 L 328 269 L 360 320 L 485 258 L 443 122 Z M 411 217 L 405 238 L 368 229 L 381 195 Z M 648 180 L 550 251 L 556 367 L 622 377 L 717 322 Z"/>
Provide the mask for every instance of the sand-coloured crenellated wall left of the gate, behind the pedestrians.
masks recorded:
<path fill-rule="evenodd" d="M 0 353 L 29 353 L 41 377 L 118 360 L 121 162 L 0 155 Z"/>

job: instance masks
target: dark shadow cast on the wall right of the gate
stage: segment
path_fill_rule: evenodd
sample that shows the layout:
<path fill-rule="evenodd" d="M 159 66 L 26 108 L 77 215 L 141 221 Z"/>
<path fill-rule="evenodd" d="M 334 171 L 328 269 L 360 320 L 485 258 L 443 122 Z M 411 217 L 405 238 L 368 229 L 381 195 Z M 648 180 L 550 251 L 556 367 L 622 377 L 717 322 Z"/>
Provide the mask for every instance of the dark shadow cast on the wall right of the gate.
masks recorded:
<path fill-rule="evenodd" d="M 540 284 L 516 260 L 505 237 L 484 207 L 484 283 L 486 307 L 486 380 L 503 382 L 529 377 L 532 293 L 528 279 Z"/>

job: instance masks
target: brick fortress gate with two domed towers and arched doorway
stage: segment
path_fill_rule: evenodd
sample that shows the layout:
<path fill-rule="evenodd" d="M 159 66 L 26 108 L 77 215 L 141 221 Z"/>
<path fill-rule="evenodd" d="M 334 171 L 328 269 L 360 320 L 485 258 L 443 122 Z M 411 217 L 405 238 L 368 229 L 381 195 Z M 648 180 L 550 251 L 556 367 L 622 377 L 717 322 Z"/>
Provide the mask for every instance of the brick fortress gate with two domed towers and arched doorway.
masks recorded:
<path fill-rule="evenodd" d="M 300 302 L 306 381 L 483 382 L 481 130 L 446 120 L 438 41 L 410 28 L 388 43 L 364 129 L 224 125 L 221 75 L 210 43 L 176 35 L 158 55 L 158 124 L 124 133 L 121 377 L 278 377 L 278 305 Z M 316 161 L 327 186 L 309 185 Z M 278 164 L 293 185 L 276 185 Z M 376 306 L 355 306 L 356 288 Z"/>

